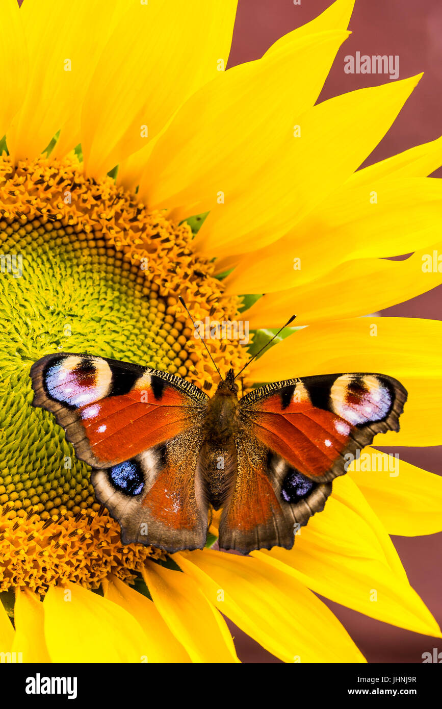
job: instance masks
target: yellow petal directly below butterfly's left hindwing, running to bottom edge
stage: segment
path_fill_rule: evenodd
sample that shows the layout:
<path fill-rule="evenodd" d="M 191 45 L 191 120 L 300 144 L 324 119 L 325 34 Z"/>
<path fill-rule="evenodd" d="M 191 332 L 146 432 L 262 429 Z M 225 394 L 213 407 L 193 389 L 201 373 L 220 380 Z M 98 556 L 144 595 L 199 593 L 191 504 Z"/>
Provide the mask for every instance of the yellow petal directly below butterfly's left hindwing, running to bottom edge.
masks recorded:
<path fill-rule="evenodd" d="M 225 620 L 193 579 L 151 563 L 142 574 L 159 613 L 193 662 L 239 662 Z"/>

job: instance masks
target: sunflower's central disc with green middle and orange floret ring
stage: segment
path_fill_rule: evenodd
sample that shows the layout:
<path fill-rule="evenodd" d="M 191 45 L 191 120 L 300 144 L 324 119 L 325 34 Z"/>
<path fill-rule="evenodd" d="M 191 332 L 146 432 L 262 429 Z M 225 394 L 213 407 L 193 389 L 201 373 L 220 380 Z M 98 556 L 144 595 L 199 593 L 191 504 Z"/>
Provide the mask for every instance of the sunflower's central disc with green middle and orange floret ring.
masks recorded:
<path fill-rule="evenodd" d="M 223 295 L 192 238 L 111 177 L 85 177 L 74 155 L 0 159 L 0 590 L 47 588 L 63 574 L 95 588 L 110 557 L 130 576 L 161 554 L 123 547 L 119 525 L 98 515 L 91 469 L 54 417 L 31 406 L 29 370 L 45 354 L 90 353 L 166 370 L 210 395 L 217 374 L 178 298 L 196 319 L 232 320 L 240 301 Z M 205 344 L 222 373 L 247 359 L 239 342 Z"/>

